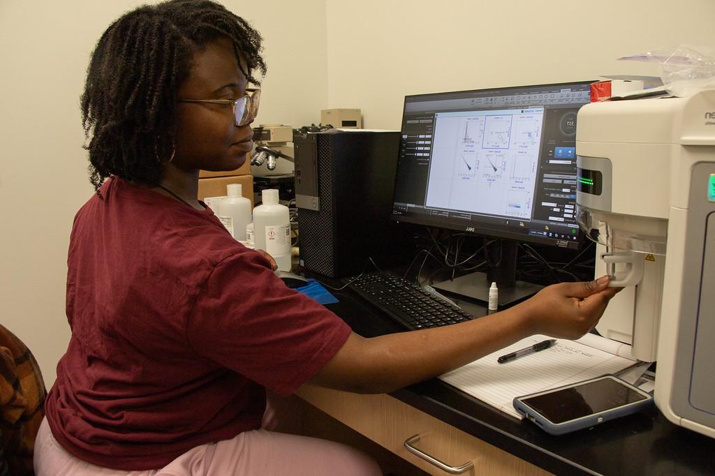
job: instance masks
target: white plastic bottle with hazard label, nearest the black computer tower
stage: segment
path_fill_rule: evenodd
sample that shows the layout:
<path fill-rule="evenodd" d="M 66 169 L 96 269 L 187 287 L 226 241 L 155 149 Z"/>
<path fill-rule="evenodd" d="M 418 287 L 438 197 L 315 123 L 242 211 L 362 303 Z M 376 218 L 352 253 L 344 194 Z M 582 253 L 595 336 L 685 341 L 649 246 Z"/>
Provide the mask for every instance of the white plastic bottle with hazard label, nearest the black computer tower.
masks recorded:
<path fill-rule="evenodd" d="M 264 249 L 281 271 L 290 271 L 290 212 L 278 203 L 278 190 L 261 192 L 263 204 L 253 209 L 253 243 Z"/>

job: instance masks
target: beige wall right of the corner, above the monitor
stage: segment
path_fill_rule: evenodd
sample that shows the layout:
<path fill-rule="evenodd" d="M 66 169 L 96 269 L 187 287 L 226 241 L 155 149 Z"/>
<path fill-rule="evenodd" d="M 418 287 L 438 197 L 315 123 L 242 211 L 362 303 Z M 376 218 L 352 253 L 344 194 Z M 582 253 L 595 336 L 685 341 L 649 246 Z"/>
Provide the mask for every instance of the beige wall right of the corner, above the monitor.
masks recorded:
<path fill-rule="evenodd" d="M 328 102 L 399 129 L 405 94 L 657 75 L 615 59 L 715 47 L 713 19 L 713 0 L 328 0 Z"/>

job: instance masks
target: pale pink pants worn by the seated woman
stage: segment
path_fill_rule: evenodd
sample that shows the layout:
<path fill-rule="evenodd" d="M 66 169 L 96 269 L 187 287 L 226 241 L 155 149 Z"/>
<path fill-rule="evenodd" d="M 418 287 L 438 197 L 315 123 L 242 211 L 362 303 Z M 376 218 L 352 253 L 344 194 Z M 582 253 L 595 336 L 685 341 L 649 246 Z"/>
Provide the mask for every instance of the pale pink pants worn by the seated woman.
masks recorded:
<path fill-rule="evenodd" d="M 122 471 L 92 465 L 70 455 L 43 420 L 35 440 L 36 476 L 230 476 L 382 475 L 358 450 L 317 438 L 267 430 L 243 432 L 231 440 L 201 445 L 158 470 Z"/>

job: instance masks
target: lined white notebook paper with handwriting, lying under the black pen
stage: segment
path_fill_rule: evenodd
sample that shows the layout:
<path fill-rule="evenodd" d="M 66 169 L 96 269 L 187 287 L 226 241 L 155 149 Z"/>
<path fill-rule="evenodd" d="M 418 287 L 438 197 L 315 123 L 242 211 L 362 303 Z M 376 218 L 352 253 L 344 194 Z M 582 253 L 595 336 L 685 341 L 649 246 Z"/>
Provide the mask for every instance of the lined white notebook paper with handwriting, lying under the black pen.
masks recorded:
<path fill-rule="evenodd" d="M 513 407 L 514 397 L 615 374 L 635 365 L 631 346 L 595 334 L 578 340 L 558 339 L 549 349 L 499 364 L 498 357 L 549 339 L 533 335 L 440 376 L 440 380 L 522 419 Z"/>

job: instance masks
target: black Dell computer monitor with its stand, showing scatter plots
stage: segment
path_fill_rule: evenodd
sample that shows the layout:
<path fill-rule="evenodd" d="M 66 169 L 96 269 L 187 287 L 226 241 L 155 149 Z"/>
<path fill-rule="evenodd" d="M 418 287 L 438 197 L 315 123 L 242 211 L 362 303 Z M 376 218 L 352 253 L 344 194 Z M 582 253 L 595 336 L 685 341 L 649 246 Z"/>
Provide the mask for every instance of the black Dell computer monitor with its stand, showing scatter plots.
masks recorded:
<path fill-rule="evenodd" d="M 592 82 L 405 96 L 393 219 L 503 239 L 489 277 L 433 286 L 485 300 L 497 276 L 506 304 L 539 289 L 514 279 L 517 242 L 583 245 L 576 114 Z"/>

